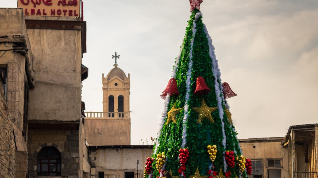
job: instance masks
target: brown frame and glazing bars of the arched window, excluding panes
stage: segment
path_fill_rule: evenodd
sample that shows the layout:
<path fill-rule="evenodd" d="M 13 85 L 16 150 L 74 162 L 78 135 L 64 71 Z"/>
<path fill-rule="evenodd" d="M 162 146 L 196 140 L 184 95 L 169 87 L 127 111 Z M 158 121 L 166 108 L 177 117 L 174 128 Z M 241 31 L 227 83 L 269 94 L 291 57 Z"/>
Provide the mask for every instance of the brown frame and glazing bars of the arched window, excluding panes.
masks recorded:
<path fill-rule="evenodd" d="M 55 149 L 56 153 L 59 155 L 59 159 L 50 159 L 50 157 L 46 157 L 46 158 L 40 158 L 40 153 L 41 151 L 44 151 L 43 149 Z M 48 162 L 42 162 L 42 160 L 48 160 Z M 55 162 L 50 162 L 50 160 L 56 160 Z M 38 170 L 38 164 L 40 164 L 40 170 Z M 43 165 L 48 165 L 48 171 L 43 171 L 42 170 L 42 166 Z M 55 164 L 55 170 L 54 172 L 49 171 L 50 169 L 50 164 Z M 59 165 L 58 165 L 59 164 Z M 50 174 L 56 174 L 56 175 L 50 175 Z M 37 175 L 38 176 L 61 176 L 62 173 L 62 155 L 59 152 L 59 150 L 53 146 L 45 146 L 43 147 L 39 152 L 38 152 L 38 156 L 37 156 Z M 43 174 L 49 174 L 49 175 L 43 175 Z"/>

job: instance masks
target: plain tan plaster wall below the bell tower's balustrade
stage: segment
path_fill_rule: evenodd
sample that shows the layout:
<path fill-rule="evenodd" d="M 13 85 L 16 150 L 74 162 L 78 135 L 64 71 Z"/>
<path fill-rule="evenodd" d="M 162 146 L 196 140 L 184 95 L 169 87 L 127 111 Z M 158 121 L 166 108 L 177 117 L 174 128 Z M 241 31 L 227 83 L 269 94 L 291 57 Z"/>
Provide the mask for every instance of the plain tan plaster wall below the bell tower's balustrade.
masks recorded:
<path fill-rule="evenodd" d="M 130 145 L 130 119 L 85 118 L 85 138 L 89 145 Z"/>

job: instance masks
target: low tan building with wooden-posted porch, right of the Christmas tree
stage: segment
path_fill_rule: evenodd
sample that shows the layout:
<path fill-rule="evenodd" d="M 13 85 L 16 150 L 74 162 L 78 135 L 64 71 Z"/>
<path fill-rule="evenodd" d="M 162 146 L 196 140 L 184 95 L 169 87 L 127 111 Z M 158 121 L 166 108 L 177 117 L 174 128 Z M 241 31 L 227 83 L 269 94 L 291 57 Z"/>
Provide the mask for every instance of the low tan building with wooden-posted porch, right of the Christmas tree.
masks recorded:
<path fill-rule="evenodd" d="M 240 139 L 250 178 L 317 178 L 318 124 L 290 126 L 285 137 Z"/>

